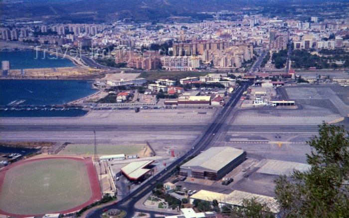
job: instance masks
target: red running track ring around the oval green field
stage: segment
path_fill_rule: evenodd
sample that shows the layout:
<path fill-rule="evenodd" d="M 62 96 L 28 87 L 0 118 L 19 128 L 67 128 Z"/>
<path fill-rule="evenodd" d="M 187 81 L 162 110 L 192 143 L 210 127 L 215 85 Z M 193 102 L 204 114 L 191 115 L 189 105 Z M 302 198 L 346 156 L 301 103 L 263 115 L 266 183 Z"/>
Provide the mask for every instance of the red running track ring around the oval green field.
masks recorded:
<path fill-rule="evenodd" d="M 7 167 L 4 167 L 1 171 L 0 171 L 0 192 L 1 192 L 1 188 L 2 188 L 2 184 L 3 184 L 3 181 L 5 179 L 5 174 L 6 172 L 11 169 L 12 167 L 15 167 L 15 166 L 18 166 L 22 163 L 27 163 L 27 162 L 32 162 L 32 161 L 37 161 L 37 160 L 45 160 L 45 159 L 71 159 L 71 160 L 76 160 L 76 161 L 80 161 L 82 163 L 84 163 L 86 165 L 86 169 L 87 169 L 87 174 L 88 174 L 88 178 L 90 180 L 90 186 L 91 186 L 91 192 L 92 192 L 92 197 L 87 201 L 85 202 L 84 204 L 78 206 L 78 207 L 75 207 L 75 208 L 71 208 L 71 209 L 68 209 L 68 210 L 65 210 L 65 211 L 57 211 L 57 212 L 53 212 L 53 213 L 62 213 L 62 214 L 67 214 L 67 213 L 72 213 L 72 212 L 75 212 L 75 211 L 78 211 L 98 200 L 101 200 L 102 199 L 102 195 L 101 195 L 101 190 L 100 190 L 100 187 L 99 187 L 99 182 L 98 182 L 98 177 L 97 177 L 97 174 L 96 174 L 96 170 L 95 170 L 95 167 L 93 165 L 93 161 L 91 158 L 85 158 L 85 159 L 82 159 L 82 158 L 74 158 L 74 157 L 49 157 L 49 158 L 38 158 L 38 159 L 31 159 L 31 160 L 26 160 L 26 161 L 19 161 L 19 162 L 16 162 L 14 164 L 11 164 Z M 53 214 L 52 213 L 52 214 Z M 25 218 L 25 217 L 34 217 L 34 216 L 42 216 L 42 214 L 37 214 L 37 215 L 31 215 L 31 214 L 11 214 L 11 213 L 7 213 L 5 211 L 2 211 L 0 209 L 0 214 L 2 215 L 7 215 L 7 216 L 13 216 L 13 217 L 17 217 L 17 218 Z"/>

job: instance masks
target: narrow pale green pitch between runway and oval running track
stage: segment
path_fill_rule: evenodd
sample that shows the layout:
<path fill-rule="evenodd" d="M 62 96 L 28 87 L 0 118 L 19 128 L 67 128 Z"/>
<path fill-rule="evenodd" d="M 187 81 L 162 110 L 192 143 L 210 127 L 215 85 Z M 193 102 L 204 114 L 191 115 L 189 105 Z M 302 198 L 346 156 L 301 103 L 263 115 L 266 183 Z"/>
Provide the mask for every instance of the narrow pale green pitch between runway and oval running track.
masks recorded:
<path fill-rule="evenodd" d="M 139 145 L 97 145 L 98 155 L 137 155 L 139 154 L 145 144 Z M 69 144 L 64 150 L 58 153 L 59 155 L 93 155 L 94 145 Z"/>

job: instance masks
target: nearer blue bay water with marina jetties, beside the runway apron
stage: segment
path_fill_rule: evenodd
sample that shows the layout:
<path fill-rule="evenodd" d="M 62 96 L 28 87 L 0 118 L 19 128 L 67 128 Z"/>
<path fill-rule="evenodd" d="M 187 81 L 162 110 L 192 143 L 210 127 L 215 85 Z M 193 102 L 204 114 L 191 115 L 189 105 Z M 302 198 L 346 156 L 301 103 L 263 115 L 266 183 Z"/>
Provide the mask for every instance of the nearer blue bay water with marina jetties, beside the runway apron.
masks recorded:
<path fill-rule="evenodd" d="M 41 110 L 48 105 L 63 105 L 97 91 L 92 88 L 92 80 L 0 80 L 0 117 L 75 117 L 87 113 L 78 108 L 60 110 Z M 10 102 L 25 100 L 15 106 L 7 106 Z M 31 109 L 25 110 L 28 106 Z M 7 110 L 4 110 L 6 109 Z M 46 107 L 47 108 L 47 107 Z M 21 109 L 21 110 L 19 110 Z"/>

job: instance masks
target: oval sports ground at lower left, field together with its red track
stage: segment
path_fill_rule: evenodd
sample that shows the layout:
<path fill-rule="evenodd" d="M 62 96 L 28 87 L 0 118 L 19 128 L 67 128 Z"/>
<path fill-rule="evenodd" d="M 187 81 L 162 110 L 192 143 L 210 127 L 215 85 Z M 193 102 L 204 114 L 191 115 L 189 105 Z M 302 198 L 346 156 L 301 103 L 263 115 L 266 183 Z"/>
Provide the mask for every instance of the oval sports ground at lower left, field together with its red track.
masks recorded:
<path fill-rule="evenodd" d="M 0 214 L 68 212 L 98 200 L 98 180 L 89 178 L 96 175 L 92 161 L 92 171 L 87 168 L 88 161 L 91 160 L 45 158 L 10 165 L 0 172 Z M 96 183 L 92 187 L 97 185 L 97 190 L 91 189 L 91 182 Z"/>

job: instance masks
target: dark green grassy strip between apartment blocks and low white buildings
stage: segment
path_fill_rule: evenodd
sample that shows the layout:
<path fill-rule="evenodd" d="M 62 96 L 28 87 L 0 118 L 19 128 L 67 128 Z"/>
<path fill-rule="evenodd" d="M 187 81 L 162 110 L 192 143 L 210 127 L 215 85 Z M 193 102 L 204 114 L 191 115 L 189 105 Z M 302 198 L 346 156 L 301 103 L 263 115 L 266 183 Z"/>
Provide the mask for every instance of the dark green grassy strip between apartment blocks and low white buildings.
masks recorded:
<path fill-rule="evenodd" d="M 128 73 L 132 73 L 128 72 Z M 205 76 L 208 73 L 214 73 L 214 72 L 198 72 L 198 71 L 165 71 L 165 70 L 159 70 L 159 71 L 143 71 L 137 78 L 146 78 L 147 80 L 157 80 L 157 79 L 181 79 L 185 77 L 199 77 L 199 76 Z"/>

